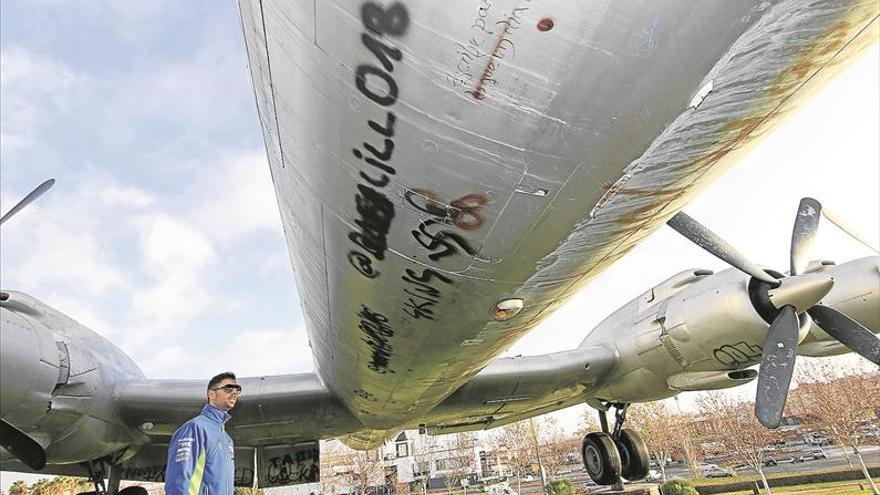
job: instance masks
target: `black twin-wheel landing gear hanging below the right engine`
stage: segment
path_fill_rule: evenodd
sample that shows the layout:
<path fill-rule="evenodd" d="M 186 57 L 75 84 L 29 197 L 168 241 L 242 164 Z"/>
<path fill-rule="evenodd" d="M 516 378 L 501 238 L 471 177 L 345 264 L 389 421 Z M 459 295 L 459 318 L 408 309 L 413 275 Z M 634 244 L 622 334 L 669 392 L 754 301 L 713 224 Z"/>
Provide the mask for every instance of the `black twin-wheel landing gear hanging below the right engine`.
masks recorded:
<path fill-rule="evenodd" d="M 650 468 L 648 447 L 637 431 L 623 427 L 629 404 L 600 405 L 602 431 L 587 434 L 581 446 L 590 478 L 599 485 L 619 484 L 621 477 L 630 481 L 644 478 Z M 609 431 L 606 412 L 611 407 L 615 409 L 614 428 Z"/>

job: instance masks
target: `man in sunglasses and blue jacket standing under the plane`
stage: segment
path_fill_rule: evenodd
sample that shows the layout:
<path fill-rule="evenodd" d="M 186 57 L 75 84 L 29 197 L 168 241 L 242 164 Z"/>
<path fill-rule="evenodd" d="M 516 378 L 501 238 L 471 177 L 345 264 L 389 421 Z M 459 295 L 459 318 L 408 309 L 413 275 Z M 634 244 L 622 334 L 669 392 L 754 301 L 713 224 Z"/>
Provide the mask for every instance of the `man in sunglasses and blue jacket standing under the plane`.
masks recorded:
<path fill-rule="evenodd" d="M 224 425 L 240 393 L 231 372 L 208 382 L 208 403 L 174 432 L 168 445 L 167 495 L 233 495 L 235 451 Z"/>

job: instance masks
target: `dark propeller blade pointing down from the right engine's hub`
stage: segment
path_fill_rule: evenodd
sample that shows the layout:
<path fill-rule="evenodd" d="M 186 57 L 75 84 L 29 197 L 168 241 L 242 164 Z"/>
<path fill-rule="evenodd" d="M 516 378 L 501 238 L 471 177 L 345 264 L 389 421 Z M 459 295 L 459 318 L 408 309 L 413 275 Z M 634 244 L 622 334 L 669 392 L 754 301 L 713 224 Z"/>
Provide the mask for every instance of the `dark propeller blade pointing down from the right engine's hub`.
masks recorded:
<path fill-rule="evenodd" d="M 794 308 L 785 306 L 767 332 L 755 397 L 755 416 L 767 428 L 778 427 L 782 419 L 797 358 L 798 326 Z"/>

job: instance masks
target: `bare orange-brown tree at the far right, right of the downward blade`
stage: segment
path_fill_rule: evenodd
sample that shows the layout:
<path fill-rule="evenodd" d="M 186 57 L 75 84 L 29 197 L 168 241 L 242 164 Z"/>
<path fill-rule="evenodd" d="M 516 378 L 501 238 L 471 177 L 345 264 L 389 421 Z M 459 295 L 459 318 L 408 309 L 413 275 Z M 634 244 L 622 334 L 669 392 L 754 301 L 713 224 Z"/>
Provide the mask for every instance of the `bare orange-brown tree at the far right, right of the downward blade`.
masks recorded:
<path fill-rule="evenodd" d="M 841 450 L 852 449 L 871 490 L 880 495 L 859 448 L 861 426 L 877 419 L 874 411 L 880 408 L 880 377 L 854 367 L 832 366 L 827 360 L 810 360 L 803 362 L 799 378 L 791 405 L 809 413 L 804 415 L 806 421 L 827 432 Z"/>

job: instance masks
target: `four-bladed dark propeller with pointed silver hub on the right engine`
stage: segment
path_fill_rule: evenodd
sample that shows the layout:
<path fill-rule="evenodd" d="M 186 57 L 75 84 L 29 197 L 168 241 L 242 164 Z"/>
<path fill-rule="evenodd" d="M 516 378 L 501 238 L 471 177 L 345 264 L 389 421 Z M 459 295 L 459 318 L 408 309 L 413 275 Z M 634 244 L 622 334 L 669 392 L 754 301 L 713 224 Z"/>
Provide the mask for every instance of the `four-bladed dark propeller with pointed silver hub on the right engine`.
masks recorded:
<path fill-rule="evenodd" d="M 810 250 L 819 229 L 819 219 L 823 214 L 829 218 L 821 203 L 813 198 L 801 199 L 792 227 L 788 276 L 761 269 L 683 212 L 677 213 L 667 222 L 694 244 L 752 277 L 749 282 L 749 297 L 758 314 L 770 324 L 758 369 L 758 392 L 755 397 L 755 416 L 768 428 L 779 426 L 785 409 L 797 358 L 801 327 L 799 315 L 808 314 L 825 333 L 851 351 L 880 365 L 880 339 L 840 311 L 819 304 L 833 287 L 834 279 L 821 273 L 805 273 Z M 832 222 L 841 226 L 844 232 L 856 240 L 871 247 L 854 231 L 842 227 L 843 222 L 836 217 Z"/>

